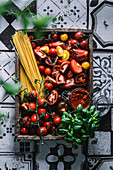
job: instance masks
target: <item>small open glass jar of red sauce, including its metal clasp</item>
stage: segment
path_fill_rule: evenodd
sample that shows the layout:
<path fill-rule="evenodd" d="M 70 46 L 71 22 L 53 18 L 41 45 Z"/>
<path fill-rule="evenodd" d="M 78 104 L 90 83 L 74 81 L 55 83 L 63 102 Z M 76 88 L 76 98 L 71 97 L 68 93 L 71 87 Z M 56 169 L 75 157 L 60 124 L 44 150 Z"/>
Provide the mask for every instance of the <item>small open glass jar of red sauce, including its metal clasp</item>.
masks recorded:
<path fill-rule="evenodd" d="M 74 109 L 76 109 L 79 104 L 81 104 L 83 109 L 85 109 L 90 105 L 91 102 L 89 92 L 83 88 L 76 88 L 71 92 L 64 91 L 63 98 L 67 99 L 70 106 Z"/>

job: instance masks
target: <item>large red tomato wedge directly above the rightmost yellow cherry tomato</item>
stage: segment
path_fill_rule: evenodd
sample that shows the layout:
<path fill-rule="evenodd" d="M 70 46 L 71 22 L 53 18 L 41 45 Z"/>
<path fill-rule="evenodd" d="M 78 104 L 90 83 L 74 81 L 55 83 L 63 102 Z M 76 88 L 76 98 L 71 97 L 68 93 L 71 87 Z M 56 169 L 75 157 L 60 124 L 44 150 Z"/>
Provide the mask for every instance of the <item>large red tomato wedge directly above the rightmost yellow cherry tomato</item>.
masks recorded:
<path fill-rule="evenodd" d="M 78 49 L 73 49 L 72 50 L 72 58 L 75 59 L 76 61 L 85 60 L 87 55 L 88 55 L 87 50 L 78 50 Z"/>

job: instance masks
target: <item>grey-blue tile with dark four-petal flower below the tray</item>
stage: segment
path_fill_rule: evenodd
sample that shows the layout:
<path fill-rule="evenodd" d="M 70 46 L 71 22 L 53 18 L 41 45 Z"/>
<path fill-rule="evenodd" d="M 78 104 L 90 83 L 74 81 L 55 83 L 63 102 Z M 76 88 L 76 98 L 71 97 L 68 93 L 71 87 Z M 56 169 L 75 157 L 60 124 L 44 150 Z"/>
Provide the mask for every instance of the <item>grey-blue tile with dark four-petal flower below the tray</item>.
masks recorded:
<path fill-rule="evenodd" d="M 85 161 L 82 155 L 81 146 L 73 149 L 64 140 L 45 141 L 45 144 L 38 146 L 39 153 L 36 157 L 36 164 L 39 169 L 71 169 L 81 170 L 81 165 Z"/>

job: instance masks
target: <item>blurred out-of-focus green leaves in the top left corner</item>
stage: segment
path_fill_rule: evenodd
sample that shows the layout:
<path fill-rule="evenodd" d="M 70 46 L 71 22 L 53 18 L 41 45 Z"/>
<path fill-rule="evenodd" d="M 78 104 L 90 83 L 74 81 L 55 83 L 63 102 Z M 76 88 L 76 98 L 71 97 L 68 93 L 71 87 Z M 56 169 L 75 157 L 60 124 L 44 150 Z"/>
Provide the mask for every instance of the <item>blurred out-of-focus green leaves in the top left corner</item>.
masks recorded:
<path fill-rule="evenodd" d="M 51 17 L 42 17 L 40 19 L 37 19 L 37 15 L 30 11 L 31 4 L 23 11 L 13 10 L 12 4 L 13 4 L 12 0 L 9 0 L 8 2 L 5 3 L 1 3 L 0 14 L 3 15 L 5 12 L 7 12 L 7 14 L 9 15 L 14 15 L 16 18 L 20 18 L 24 27 L 24 32 L 26 32 L 28 27 L 32 25 L 36 31 L 35 36 L 40 38 L 42 36 L 41 33 L 42 29 L 47 27 L 47 24 L 50 21 Z"/>

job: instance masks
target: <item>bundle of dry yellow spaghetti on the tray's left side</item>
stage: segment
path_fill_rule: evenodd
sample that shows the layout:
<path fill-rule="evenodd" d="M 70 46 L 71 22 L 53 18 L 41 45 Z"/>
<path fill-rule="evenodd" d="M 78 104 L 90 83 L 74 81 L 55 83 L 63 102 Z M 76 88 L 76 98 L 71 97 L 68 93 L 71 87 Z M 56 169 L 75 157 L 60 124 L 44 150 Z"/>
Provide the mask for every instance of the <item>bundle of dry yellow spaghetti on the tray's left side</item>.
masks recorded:
<path fill-rule="evenodd" d="M 28 92 L 33 89 L 38 92 L 40 84 L 36 84 L 34 81 L 38 79 L 41 82 L 42 77 L 37 67 L 29 37 L 22 31 L 18 31 L 13 35 L 13 42 L 21 62 L 20 81 L 22 81 L 23 88 L 28 87 Z M 42 95 L 42 93 L 40 93 L 40 95 Z"/>

